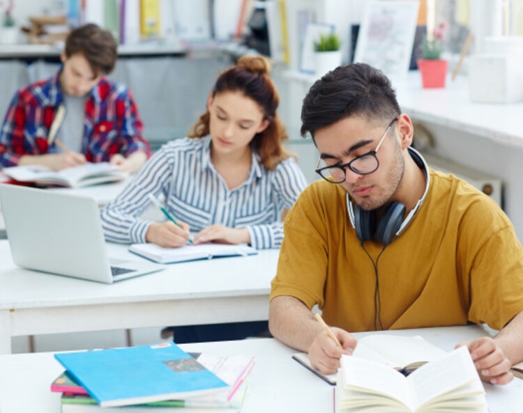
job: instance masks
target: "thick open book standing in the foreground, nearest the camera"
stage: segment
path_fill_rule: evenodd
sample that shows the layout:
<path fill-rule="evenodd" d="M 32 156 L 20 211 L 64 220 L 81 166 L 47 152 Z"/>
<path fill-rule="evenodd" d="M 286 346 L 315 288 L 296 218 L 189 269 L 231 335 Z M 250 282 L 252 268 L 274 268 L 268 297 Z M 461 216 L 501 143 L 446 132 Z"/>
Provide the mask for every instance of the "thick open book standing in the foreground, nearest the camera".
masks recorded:
<path fill-rule="evenodd" d="M 464 346 L 408 377 L 375 361 L 343 355 L 336 407 L 336 412 L 351 413 L 488 412 L 485 389 Z"/>

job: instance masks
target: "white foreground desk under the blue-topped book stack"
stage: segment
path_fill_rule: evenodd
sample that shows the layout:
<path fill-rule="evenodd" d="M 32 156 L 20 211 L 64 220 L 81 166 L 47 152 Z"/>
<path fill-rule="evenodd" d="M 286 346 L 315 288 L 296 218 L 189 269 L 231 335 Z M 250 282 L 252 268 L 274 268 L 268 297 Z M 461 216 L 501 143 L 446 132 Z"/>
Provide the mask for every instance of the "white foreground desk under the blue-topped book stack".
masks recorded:
<path fill-rule="evenodd" d="M 420 334 L 444 350 L 452 350 L 458 341 L 486 334 L 476 326 L 398 330 L 391 333 Z M 292 360 L 294 350 L 272 338 L 195 343 L 182 347 L 186 351 L 255 356 L 256 364 L 243 407 L 244 413 L 333 412 L 333 386 Z M 62 371 L 63 368 L 52 353 L 0 355 L 0 412 L 59 412 L 60 394 L 52 393 L 50 384 Z M 31 397 L 27 397 L 28 389 Z M 514 379 L 506 386 L 485 384 L 485 389 L 491 413 L 522 411 L 523 380 Z"/>

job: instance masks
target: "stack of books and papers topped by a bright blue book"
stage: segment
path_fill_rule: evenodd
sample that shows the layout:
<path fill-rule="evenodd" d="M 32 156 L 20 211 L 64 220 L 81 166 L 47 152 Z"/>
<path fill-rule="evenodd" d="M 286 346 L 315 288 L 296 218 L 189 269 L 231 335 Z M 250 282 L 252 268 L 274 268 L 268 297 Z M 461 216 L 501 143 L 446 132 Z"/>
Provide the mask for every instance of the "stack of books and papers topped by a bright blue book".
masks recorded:
<path fill-rule="evenodd" d="M 175 343 L 55 354 L 62 413 L 241 412 L 250 356 L 186 353 Z"/>

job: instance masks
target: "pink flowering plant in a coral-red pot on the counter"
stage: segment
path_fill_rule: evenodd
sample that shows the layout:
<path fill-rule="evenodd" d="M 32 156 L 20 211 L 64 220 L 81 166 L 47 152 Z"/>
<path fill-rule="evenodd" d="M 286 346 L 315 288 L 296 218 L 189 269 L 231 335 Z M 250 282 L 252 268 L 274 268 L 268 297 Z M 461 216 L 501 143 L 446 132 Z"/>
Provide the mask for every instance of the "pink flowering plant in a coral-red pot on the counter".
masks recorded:
<path fill-rule="evenodd" d="M 424 88 L 444 88 L 447 76 L 448 61 L 441 59 L 445 33 L 448 29 L 446 22 L 441 22 L 432 36 L 425 36 L 420 44 L 421 59 L 418 59 L 418 69 Z M 428 35 L 428 33 L 427 33 Z"/>

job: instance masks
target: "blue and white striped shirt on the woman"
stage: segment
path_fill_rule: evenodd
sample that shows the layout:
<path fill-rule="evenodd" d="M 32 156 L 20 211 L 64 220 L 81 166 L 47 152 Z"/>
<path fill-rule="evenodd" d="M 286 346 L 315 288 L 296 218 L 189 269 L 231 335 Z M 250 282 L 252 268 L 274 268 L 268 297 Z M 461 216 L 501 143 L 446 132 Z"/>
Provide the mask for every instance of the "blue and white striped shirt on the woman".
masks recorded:
<path fill-rule="evenodd" d="M 277 248 L 283 239 L 282 210 L 291 208 L 306 185 L 294 159 L 269 171 L 252 153 L 248 178 L 229 189 L 211 162 L 211 137 L 176 139 L 162 146 L 107 204 L 101 213 L 103 229 L 109 241 L 146 242 L 152 222 L 139 217 L 149 207 L 148 194 L 163 194 L 167 210 L 191 231 L 212 224 L 248 228 L 252 247 Z"/>

